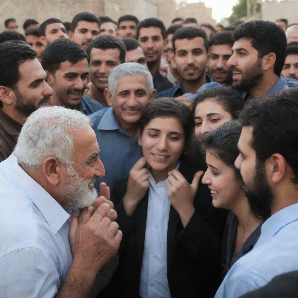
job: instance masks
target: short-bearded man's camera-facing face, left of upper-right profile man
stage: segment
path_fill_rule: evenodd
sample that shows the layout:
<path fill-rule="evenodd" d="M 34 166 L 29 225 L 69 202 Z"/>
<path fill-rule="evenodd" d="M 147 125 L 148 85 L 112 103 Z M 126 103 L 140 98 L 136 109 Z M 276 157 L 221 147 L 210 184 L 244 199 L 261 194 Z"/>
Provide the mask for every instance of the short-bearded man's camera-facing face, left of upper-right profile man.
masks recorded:
<path fill-rule="evenodd" d="M 202 37 L 176 39 L 172 64 L 186 81 L 200 80 L 205 74 L 207 52 Z"/>

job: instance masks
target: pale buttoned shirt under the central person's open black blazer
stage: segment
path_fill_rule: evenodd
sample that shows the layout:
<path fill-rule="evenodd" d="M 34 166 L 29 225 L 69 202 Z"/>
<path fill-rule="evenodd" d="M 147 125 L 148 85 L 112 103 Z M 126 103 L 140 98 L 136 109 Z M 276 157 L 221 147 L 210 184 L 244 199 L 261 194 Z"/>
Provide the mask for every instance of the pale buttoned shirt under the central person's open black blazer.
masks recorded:
<path fill-rule="evenodd" d="M 171 204 L 167 179 L 155 183 L 149 170 L 148 173 L 150 186 L 139 295 L 167 298 L 171 297 L 167 280 L 167 228 Z"/>

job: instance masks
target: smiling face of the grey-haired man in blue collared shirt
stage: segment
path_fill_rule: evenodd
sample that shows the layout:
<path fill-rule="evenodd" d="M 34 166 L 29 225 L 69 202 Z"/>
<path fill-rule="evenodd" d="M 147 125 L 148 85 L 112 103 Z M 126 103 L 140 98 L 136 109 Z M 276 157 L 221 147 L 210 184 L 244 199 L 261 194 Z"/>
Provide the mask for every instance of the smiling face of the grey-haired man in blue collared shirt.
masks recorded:
<path fill-rule="evenodd" d="M 125 75 L 117 79 L 117 88 L 109 105 L 113 105 L 120 126 L 139 122 L 142 110 L 151 97 L 143 75 Z"/>

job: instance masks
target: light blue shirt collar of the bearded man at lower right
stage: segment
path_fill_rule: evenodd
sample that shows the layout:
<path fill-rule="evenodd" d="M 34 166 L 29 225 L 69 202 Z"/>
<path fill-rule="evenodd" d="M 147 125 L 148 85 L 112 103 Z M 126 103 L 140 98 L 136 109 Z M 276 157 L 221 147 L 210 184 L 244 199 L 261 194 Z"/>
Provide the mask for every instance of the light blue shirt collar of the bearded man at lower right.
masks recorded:
<path fill-rule="evenodd" d="M 298 220 L 298 203 L 285 207 L 271 215 L 261 229 L 260 239 L 272 238 L 280 229 L 287 224 Z"/>

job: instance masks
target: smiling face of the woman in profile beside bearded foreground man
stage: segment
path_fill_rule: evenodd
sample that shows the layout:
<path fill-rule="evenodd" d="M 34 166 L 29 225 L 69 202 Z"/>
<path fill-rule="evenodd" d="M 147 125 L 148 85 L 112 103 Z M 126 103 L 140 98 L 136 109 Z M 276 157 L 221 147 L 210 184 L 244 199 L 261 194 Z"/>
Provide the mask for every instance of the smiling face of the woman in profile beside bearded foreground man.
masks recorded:
<path fill-rule="evenodd" d="M 243 188 L 235 170 L 225 164 L 213 151 L 206 152 L 207 170 L 202 178 L 208 184 L 215 208 L 233 209 L 235 202 L 243 195 Z"/>

